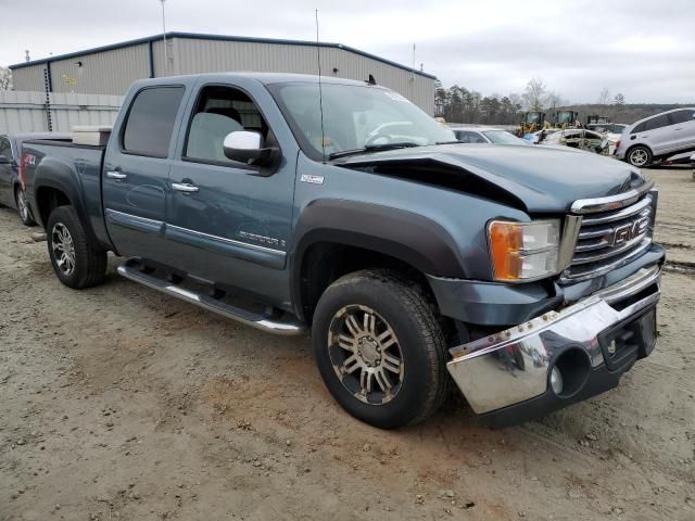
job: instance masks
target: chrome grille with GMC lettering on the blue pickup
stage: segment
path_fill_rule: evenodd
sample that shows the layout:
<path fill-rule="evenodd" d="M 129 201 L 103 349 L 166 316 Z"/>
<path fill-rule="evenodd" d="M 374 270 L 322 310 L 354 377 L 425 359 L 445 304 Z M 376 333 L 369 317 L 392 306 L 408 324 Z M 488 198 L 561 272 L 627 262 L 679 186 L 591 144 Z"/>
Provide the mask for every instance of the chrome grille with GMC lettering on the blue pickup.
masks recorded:
<path fill-rule="evenodd" d="M 618 209 L 585 213 L 574 253 L 560 282 L 604 275 L 640 256 L 652 243 L 656 192 Z"/>

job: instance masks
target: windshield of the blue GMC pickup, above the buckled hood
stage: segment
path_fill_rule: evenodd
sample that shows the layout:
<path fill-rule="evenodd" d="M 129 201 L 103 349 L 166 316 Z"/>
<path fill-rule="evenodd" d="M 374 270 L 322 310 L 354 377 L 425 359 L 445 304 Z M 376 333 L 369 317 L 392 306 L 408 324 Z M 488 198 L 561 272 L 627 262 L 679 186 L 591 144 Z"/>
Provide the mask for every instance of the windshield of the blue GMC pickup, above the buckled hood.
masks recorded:
<path fill-rule="evenodd" d="M 302 150 L 316 160 L 346 151 L 455 141 L 450 129 L 401 94 L 380 87 L 324 84 L 324 147 L 318 84 L 268 86 Z"/>

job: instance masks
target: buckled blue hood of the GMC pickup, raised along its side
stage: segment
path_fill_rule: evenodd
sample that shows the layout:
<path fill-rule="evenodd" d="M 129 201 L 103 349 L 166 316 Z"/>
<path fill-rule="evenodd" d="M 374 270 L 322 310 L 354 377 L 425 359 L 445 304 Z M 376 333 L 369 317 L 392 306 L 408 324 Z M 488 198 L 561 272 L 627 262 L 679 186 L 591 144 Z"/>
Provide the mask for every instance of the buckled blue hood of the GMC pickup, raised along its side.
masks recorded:
<path fill-rule="evenodd" d="M 503 200 L 529 214 L 566 213 L 578 199 L 615 195 L 645 182 L 627 163 L 570 148 L 442 144 L 332 164 Z"/>

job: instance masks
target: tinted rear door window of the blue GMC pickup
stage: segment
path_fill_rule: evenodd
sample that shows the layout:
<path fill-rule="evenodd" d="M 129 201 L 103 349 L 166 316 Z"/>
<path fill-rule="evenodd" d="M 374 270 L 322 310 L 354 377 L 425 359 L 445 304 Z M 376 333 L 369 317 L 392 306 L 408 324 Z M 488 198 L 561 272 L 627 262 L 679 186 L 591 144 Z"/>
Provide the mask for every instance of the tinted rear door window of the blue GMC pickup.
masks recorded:
<path fill-rule="evenodd" d="M 182 97 L 184 87 L 154 87 L 138 92 L 123 132 L 124 152 L 166 157 Z"/>

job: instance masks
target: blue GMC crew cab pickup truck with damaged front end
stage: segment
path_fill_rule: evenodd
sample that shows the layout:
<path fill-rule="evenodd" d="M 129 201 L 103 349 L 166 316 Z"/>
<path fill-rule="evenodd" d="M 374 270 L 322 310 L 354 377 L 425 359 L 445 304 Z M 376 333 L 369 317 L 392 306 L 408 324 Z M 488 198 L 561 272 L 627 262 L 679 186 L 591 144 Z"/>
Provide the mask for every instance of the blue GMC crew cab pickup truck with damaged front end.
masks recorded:
<path fill-rule="evenodd" d="M 137 81 L 108 144 L 84 142 L 24 144 L 61 282 L 99 284 L 111 251 L 154 290 L 311 330 L 331 394 L 370 424 L 418 422 L 455 383 L 510 425 L 655 346 L 657 192 L 624 163 L 456 143 L 372 82 L 254 73 Z"/>

